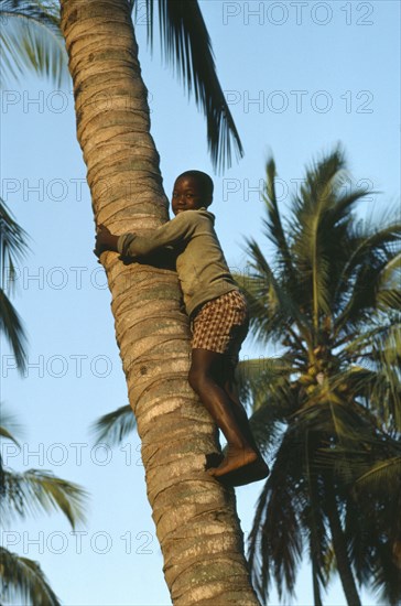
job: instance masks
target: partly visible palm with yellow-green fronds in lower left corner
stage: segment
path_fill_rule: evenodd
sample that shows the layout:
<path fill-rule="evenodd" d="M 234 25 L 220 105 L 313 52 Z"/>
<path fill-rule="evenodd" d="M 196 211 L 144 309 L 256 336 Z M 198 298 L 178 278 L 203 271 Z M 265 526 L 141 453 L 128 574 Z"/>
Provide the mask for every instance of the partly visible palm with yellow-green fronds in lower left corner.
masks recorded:
<path fill-rule="evenodd" d="M 10 416 L 1 410 L 0 439 L 19 445 L 10 430 Z M 62 511 L 73 528 L 84 520 L 86 493 L 76 484 L 50 472 L 28 469 L 15 473 L 3 466 L 0 455 L 0 513 L 2 526 L 39 511 Z M 41 566 L 29 558 L 0 548 L 0 603 L 58 606 Z"/>

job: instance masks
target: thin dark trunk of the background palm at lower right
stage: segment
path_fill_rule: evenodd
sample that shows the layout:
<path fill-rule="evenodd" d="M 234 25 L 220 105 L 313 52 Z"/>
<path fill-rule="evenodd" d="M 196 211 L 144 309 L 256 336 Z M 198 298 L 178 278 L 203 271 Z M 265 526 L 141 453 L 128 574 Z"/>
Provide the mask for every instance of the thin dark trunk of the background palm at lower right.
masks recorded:
<path fill-rule="evenodd" d="M 361 606 L 338 515 L 337 501 L 333 489 L 333 480 L 330 478 L 326 479 L 325 489 L 327 491 L 327 501 L 329 504 L 327 507 L 328 523 L 330 527 L 333 548 L 336 555 L 337 569 L 342 580 L 344 594 L 348 606 Z"/>

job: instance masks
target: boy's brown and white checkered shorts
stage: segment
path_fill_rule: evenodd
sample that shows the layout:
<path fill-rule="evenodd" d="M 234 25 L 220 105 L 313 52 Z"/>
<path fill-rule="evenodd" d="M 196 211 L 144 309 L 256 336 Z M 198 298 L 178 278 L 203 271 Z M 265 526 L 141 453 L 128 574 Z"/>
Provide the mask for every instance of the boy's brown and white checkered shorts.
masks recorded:
<path fill-rule="evenodd" d="M 207 349 L 228 356 L 234 365 L 248 333 L 247 301 L 234 290 L 205 303 L 191 322 L 193 349 Z"/>

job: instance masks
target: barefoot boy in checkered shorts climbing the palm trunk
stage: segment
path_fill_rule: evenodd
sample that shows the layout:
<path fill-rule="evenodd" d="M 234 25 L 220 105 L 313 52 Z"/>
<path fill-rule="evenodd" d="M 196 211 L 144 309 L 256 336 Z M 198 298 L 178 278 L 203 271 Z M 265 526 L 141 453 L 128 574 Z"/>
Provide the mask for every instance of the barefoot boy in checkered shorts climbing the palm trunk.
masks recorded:
<path fill-rule="evenodd" d="M 144 257 L 173 247 L 176 271 L 191 320 L 192 365 L 188 381 L 227 440 L 227 453 L 209 473 L 230 485 L 268 476 L 234 382 L 238 353 L 248 332 L 248 311 L 214 230 L 207 210 L 213 181 L 201 171 L 186 171 L 174 184 L 171 221 L 147 236 L 112 235 L 100 225 L 95 253 L 115 250 L 124 257 Z"/>

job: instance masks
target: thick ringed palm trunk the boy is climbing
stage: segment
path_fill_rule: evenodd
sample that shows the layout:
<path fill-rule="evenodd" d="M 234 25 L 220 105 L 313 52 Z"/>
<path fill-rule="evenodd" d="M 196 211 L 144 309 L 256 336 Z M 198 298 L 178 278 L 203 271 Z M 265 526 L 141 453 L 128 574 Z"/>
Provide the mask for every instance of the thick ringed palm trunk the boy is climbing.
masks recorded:
<path fill-rule="evenodd" d="M 166 198 L 128 2 L 61 3 L 96 221 L 116 234 L 152 230 L 167 220 Z M 172 600 L 256 605 L 234 493 L 204 470 L 215 432 L 187 383 L 176 274 L 113 252 L 102 262 Z"/>

